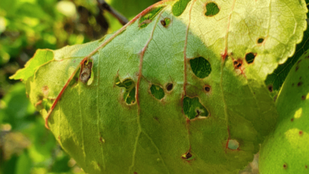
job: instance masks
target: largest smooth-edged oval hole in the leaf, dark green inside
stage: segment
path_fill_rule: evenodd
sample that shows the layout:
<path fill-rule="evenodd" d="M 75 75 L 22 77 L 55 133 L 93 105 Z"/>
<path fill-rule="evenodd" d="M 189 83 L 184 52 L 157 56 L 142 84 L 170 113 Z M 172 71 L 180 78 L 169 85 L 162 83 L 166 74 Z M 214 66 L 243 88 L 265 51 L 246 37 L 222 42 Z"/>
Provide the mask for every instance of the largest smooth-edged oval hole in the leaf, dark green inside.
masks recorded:
<path fill-rule="evenodd" d="M 208 77 L 211 72 L 210 63 L 203 57 L 191 59 L 190 66 L 193 73 L 201 79 Z"/>

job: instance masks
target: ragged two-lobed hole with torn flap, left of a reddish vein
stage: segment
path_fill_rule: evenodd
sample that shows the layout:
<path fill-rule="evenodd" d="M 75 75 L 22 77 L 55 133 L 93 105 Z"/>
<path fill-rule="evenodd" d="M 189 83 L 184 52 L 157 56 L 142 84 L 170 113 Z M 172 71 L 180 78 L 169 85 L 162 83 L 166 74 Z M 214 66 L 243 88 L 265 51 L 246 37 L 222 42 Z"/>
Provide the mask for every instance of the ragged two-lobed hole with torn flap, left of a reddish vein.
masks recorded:
<path fill-rule="evenodd" d="M 135 99 L 135 82 L 132 79 L 125 79 L 120 81 L 119 77 L 115 80 L 115 85 L 119 88 L 125 88 L 124 91 L 124 101 L 126 104 L 134 104 Z"/>

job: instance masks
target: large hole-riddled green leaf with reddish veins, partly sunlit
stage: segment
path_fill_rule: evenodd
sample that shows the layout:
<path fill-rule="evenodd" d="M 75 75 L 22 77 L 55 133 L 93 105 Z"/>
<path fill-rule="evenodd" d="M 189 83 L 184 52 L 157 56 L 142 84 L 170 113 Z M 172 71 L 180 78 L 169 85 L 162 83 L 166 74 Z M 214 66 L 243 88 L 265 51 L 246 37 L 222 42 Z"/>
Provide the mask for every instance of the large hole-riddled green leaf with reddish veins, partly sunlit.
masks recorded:
<path fill-rule="evenodd" d="M 235 173 L 275 125 L 264 81 L 306 13 L 305 1 L 161 1 L 15 77 L 35 68 L 30 100 L 87 173 Z"/>

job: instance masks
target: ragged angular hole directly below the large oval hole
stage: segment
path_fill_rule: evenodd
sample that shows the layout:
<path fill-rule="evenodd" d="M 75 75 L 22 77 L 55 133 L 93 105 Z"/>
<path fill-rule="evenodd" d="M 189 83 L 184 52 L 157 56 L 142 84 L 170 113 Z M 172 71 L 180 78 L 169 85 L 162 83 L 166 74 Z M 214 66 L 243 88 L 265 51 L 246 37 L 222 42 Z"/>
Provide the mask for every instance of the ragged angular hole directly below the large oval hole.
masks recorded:
<path fill-rule="evenodd" d="M 208 117 L 207 109 L 199 102 L 198 97 L 184 97 L 183 98 L 183 112 L 187 118 L 194 119 L 197 117 Z"/>

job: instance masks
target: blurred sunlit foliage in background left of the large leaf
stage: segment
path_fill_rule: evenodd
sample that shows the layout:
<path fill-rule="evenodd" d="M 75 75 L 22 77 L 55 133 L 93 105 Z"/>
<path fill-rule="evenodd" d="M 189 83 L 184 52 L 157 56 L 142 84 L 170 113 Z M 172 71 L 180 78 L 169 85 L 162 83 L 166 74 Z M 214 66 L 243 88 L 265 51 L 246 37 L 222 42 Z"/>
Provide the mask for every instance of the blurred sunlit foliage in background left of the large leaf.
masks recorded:
<path fill-rule="evenodd" d="M 159 0 L 107 0 L 132 19 Z M 26 97 L 8 79 L 36 49 L 97 40 L 120 24 L 96 0 L 0 0 L 0 174 L 84 173 L 62 151 Z"/>

